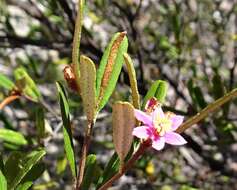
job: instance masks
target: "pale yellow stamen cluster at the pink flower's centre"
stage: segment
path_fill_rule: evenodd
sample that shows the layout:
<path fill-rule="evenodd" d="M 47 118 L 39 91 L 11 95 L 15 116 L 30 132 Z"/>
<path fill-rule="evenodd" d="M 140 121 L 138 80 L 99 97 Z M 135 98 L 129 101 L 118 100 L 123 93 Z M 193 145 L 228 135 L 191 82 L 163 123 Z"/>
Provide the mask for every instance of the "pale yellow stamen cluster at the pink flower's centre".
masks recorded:
<path fill-rule="evenodd" d="M 164 136 L 167 131 L 170 131 L 172 122 L 168 118 L 157 118 L 153 121 L 156 132 L 159 136 Z"/>

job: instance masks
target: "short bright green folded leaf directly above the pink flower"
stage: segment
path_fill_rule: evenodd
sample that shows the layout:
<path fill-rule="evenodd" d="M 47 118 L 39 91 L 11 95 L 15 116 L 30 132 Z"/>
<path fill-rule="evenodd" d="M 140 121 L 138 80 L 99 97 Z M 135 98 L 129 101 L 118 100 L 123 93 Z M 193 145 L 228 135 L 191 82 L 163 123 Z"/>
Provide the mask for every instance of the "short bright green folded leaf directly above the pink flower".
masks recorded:
<path fill-rule="evenodd" d="M 142 109 L 145 108 L 147 101 L 152 97 L 155 97 L 158 101 L 163 103 L 166 97 L 167 89 L 168 89 L 167 82 L 162 80 L 156 80 L 155 82 L 153 82 L 151 87 L 147 91 L 146 96 L 144 97 L 142 103 Z"/>

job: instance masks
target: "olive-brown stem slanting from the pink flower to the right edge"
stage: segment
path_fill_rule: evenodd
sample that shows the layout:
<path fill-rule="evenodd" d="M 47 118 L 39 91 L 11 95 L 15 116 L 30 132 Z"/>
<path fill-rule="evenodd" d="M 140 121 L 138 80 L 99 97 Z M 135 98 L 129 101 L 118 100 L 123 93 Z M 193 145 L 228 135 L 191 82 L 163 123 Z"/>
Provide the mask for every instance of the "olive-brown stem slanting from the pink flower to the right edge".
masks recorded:
<path fill-rule="evenodd" d="M 185 121 L 177 130 L 177 133 L 182 133 L 192 125 L 198 123 L 202 119 L 208 116 L 211 112 L 216 111 L 218 108 L 220 108 L 223 104 L 230 101 L 232 98 L 235 98 L 237 96 L 237 89 L 232 90 L 231 92 L 227 93 L 225 96 L 219 98 L 215 102 L 209 104 L 207 107 L 205 107 L 202 111 L 197 113 L 195 116 L 191 117 L 187 121 Z"/>

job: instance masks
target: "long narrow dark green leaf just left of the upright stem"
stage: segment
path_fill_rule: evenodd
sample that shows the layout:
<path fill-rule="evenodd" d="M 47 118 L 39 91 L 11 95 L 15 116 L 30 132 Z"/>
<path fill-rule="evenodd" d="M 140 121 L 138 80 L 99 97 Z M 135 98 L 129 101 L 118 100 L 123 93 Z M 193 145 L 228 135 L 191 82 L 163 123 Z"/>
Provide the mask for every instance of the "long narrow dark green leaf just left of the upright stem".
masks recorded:
<path fill-rule="evenodd" d="M 63 119 L 63 138 L 64 138 L 64 149 L 66 152 L 66 156 L 69 162 L 69 166 L 72 171 L 73 177 L 76 177 L 76 161 L 74 155 L 74 145 L 72 140 L 72 131 L 71 131 L 71 123 L 70 123 L 70 113 L 69 113 L 69 105 L 67 96 L 63 86 L 60 83 L 57 83 L 59 100 L 60 100 L 60 108 Z"/>

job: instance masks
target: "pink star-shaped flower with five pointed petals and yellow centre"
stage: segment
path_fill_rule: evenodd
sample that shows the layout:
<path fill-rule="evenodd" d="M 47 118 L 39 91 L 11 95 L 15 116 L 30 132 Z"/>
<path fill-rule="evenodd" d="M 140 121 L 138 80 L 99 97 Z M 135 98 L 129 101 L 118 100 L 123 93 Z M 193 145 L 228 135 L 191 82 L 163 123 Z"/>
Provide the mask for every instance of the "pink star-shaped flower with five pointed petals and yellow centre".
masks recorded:
<path fill-rule="evenodd" d="M 156 150 L 164 148 L 165 143 L 183 145 L 187 141 L 175 130 L 182 124 L 183 116 L 171 112 L 164 113 L 160 105 L 151 112 L 135 109 L 135 117 L 144 125 L 133 129 L 133 135 L 141 139 L 150 139 Z"/>

